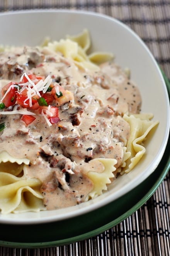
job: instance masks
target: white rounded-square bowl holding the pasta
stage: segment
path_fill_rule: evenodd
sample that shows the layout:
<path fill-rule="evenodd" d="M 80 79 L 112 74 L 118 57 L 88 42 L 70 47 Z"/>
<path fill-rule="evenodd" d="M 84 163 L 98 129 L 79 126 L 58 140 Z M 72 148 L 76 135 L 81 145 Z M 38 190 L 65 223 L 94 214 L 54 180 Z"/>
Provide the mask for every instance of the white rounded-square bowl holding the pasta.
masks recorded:
<path fill-rule="evenodd" d="M 138 84 L 142 112 L 153 113 L 159 125 L 151 134 L 146 155 L 129 174 L 117 178 L 98 198 L 67 209 L 39 213 L 0 215 L 0 223 L 34 224 L 64 220 L 100 208 L 138 186 L 156 169 L 167 145 L 170 109 L 167 88 L 160 69 L 143 41 L 116 19 L 92 12 L 70 10 L 31 10 L 0 14 L 0 44 L 30 45 L 42 43 L 46 36 L 59 40 L 66 34 L 90 31 L 91 51 L 109 51 L 122 68 L 130 68 Z"/>

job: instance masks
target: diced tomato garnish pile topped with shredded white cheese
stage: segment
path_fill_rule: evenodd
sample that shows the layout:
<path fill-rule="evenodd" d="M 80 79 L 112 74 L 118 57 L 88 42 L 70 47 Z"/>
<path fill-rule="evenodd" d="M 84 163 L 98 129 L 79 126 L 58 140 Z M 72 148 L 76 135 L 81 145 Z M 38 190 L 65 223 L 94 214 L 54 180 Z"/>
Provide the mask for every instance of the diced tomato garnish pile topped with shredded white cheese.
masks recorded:
<path fill-rule="evenodd" d="M 45 78 L 24 73 L 19 83 L 12 81 L 2 88 L 1 104 L 5 109 L 19 105 L 33 113 L 42 114 L 52 125 L 59 121 L 58 107 L 73 99 L 72 92 L 63 89 L 57 83 L 53 84 L 49 76 Z M 31 114 L 24 114 L 21 120 L 27 126 L 36 118 Z"/>

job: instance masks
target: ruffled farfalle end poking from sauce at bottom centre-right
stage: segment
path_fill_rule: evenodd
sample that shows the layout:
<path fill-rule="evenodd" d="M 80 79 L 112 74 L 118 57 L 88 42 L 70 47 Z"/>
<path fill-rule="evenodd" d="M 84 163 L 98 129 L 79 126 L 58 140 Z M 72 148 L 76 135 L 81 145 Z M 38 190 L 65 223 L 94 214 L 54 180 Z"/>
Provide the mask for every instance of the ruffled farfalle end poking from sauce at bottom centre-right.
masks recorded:
<path fill-rule="evenodd" d="M 92 161 L 100 161 L 104 165 L 104 171 L 95 172 L 89 170 L 87 172 L 87 176 L 93 182 L 93 189 L 87 195 L 85 201 L 102 195 L 102 191 L 107 190 L 107 184 L 111 183 L 110 179 L 114 178 L 113 172 L 116 171 L 116 167 L 114 167 L 114 165 L 117 163 L 116 159 L 96 158 L 94 160 L 91 160 L 90 162 Z"/>

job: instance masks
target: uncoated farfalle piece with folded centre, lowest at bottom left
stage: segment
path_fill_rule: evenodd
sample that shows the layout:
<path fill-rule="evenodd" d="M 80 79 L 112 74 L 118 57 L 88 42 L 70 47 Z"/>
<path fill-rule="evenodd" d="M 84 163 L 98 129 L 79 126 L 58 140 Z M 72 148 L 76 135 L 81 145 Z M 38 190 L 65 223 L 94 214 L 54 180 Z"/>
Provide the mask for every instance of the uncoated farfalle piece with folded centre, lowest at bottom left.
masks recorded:
<path fill-rule="evenodd" d="M 38 212 L 45 210 L 40 193 L 41 181 L 26 179 L 0 172 L 0 209 L 2 214 L 10 212 Z"/>

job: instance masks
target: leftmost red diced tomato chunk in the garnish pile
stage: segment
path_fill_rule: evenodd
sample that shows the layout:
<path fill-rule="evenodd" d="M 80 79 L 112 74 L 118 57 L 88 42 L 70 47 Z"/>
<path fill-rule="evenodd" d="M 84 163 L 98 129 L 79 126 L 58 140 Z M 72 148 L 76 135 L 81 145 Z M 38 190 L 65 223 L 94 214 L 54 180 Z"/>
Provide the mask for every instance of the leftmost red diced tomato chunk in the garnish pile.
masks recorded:
<path fill-rule="evenodd" d="M 14 87 L 10 88 L 11 85 L 14 85 Z M 5 95 L 5 98 L 2 100 L 2 102 L 5 104 L 5 107 L 12 106 L 16 102 L 16 94 L 18 89 L 15 87 L 15 85 L 17 85 L 16 82 L 10 82 L 2 88 L 2 96 L 4 96 L 7 90 L 10 88 L 9 92 Z"/>

